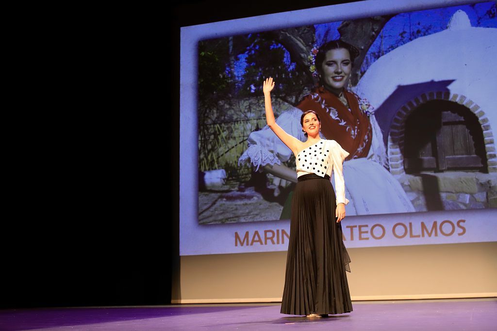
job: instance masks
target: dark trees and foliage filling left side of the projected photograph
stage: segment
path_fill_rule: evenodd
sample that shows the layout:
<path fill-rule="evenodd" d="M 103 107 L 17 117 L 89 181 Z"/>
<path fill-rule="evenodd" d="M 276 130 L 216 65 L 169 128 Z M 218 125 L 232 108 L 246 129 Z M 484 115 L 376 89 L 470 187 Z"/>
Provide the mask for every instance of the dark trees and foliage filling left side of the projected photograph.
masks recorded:
<path fill-rule="evenodd" d="M 297 103 L 309 85 L 308 75 L 267 37 L 256 34 L 199 42 L 200 171 L 225 169 L 229 179 L 248 180 L 253 170 L 240 167 L 238 159 L 247 148 L 248 134 L 265 126 L 262 80 L 273 77 L 277 83 L 273 101 L 279 98 L 290 104 Z M 234 72 L 234 59 L 240 55 L 235 51 L 247 55 L 243 75 Z"/>

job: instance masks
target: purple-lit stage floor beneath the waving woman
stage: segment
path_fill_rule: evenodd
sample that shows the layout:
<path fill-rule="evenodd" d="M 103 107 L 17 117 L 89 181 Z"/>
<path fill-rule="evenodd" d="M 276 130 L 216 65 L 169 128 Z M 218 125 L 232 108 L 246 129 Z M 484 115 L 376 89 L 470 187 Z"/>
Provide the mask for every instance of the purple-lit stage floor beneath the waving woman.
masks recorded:
<path fill-rule="evenodd" d="M 328 318 L 280 314 L 280 304 L 198 304 L 0 310 L 0 330 L 497 330 L 497 298 L 353 301 Z"/>

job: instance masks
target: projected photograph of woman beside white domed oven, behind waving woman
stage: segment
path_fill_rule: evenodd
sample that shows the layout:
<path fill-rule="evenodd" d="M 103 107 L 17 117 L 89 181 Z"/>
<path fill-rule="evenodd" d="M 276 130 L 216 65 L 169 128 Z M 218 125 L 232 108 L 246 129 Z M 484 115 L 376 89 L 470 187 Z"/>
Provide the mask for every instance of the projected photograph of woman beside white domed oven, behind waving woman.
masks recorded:
<path fill-rule="evenodd" d="M 349 153 L 347 216 L 497 207 L 496 16 L 488 1 L 199 41 L 198 223 L 290 218 L 295 156 L 266 126 L 267 77 L 286 132 L 305 141 L 314 110 Z M 352 69 L 335 95 L 318 54 L 337 43 Z"/>

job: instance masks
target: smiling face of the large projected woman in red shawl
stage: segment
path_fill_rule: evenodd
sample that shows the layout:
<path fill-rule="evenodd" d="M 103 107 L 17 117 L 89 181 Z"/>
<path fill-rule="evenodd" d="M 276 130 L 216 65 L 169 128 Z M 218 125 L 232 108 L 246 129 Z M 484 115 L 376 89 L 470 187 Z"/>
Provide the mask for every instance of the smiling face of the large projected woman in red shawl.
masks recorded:
<path fill-rule="evenodd" d="M 325 87 L 335 94 L 339 94 L 352 71 L 348 50 L 338 48 L 326 52 L 321 71 L 321 79 Z"/>

